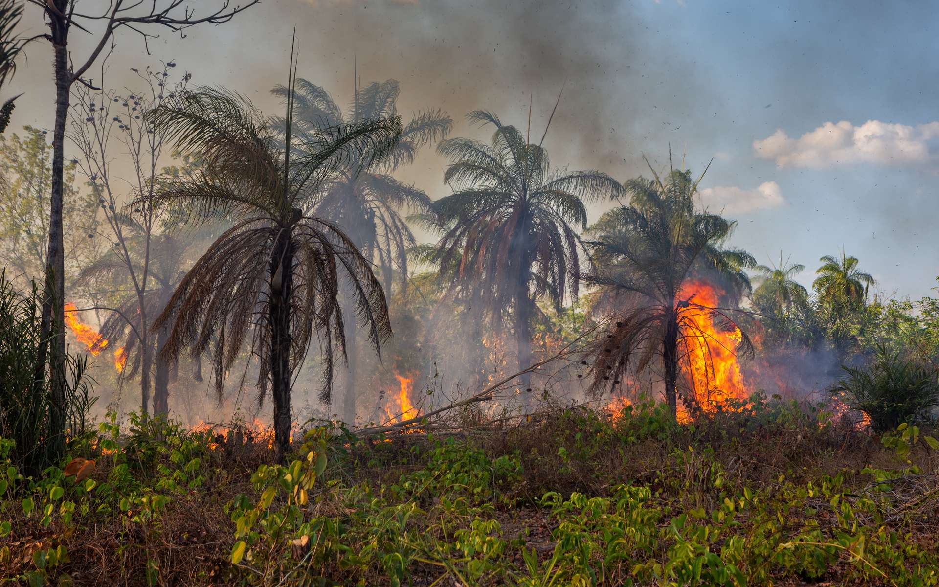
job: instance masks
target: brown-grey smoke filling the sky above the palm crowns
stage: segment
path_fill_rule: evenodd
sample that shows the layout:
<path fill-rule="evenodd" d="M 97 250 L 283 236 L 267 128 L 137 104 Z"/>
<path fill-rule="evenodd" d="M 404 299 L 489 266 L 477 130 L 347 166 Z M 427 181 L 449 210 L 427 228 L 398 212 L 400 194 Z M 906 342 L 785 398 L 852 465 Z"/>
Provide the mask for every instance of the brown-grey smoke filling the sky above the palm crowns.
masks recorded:
<path fill-rule="evenodd" d="M 193 85 L 225 85 L 276 113 L 280 105 L 269 89 L 285 82 L 294 24 L 301 77 L 323 85 L 341 103 L 351 96 L 353 68 L 362 84 L 397 79 L 403 113 L 440 107 L 457 121 L 455 135 L 480 136 L 463 121 L 477 108 L 526 129 L 531 100 L 531 136 L 538 139 L 563 86 L 546 147 L 555 164 L 572 169 L 630 177 L 643 169 L 640 149 L 664 164 L 670 141 L 680 149 L 699 143 L 696 133 L 712 130 L 693 124 L 713 101 L 695 64 L 678 48 L 656 46 L 658 31 L 640 11 L 614 0 L 277 0 L 231 23 L 192 29 L 186 39 L 151 40 L 151 56 L 138 36 L 121 34 L 105 83 L 131 84 L 129 68 L 173 59 L 192 71 Z M 85 54 L 89 41 L 76 35 L 70 48 Z M 17 78 L 32 100 L 23 100 L 14 125 L 51 122 L 52 86 L 48 68 L 41 67 L 46 51 L 38 45 Z M 100 71 L 88 75 L 100 81 Z M 663 80 L 681 80 L 682 91 Z M 401 175 L 436 195 L 445 190 L 443 162 L 426 151 Z"/>

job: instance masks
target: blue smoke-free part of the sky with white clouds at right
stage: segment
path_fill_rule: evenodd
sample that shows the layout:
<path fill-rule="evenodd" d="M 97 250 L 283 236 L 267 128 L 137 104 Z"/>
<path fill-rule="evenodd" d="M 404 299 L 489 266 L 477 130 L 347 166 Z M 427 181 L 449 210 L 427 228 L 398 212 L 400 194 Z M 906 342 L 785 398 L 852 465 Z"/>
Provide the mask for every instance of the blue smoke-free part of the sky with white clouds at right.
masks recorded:
<path fill-rule="evenodd" d="M 699 55 L 717 103 L 734 113 L 730 121 L 716 116 L 726 131 L 712 127 L 694 143 L 717 155 L 705 183 L 779 188 L 776 208 L 735 214 L 735 242 L 761 260 L 780 249 L 792 255 L 809 268 L 806 282 L 816 259 L 843 245 L 885 293 L 929 293 L 939 274 L 931 238 L 939 132 L 919 127 L 939 119 L 934 6 L 663 0 L 642 11 L 651 22 L 674 23 L 669 37 L 693 39 L 686 50 Z M 839 121 L 851 128 L 818 131 Z M 777 130 L 792 139 L 812 134 L 776 157 L 754 147 Z"/>

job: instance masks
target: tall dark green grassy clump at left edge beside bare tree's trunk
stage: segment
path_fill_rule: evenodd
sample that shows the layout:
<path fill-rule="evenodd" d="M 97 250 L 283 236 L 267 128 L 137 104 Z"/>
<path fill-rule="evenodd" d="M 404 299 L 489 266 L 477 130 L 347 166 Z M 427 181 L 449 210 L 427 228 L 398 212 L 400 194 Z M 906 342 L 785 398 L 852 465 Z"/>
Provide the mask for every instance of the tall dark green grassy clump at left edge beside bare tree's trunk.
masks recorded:
<path fill-rule="evenodd" d="M 22 293 L 0 273 L 0 438 L 15 441 L 12 459 L 26 471 L 41 471 L 54 459 L 52 442 L 67 430 L 50 428 L 53 395 L 49 371 L 38 364 L 41 300 L 36 284 Z M 69 354 L 64 412 L 69 436 L 85 431 L 94 403 L 84 355 Z"/>

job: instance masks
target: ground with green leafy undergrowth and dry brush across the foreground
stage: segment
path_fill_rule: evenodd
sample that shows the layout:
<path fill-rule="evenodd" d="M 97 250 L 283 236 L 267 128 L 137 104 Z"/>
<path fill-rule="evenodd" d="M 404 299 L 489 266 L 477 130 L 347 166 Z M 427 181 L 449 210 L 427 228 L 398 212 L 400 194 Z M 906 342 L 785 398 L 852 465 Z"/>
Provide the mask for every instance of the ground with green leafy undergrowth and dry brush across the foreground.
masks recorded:
<path fill-rule="evenodd" d="M 325 425 L 283 466 L 239 425 L 112 419 L 60 467 L 2 463 L 0 583 L 939 584 L 934 432 L 755 404 L 695 425 L 652 403 Z"/>

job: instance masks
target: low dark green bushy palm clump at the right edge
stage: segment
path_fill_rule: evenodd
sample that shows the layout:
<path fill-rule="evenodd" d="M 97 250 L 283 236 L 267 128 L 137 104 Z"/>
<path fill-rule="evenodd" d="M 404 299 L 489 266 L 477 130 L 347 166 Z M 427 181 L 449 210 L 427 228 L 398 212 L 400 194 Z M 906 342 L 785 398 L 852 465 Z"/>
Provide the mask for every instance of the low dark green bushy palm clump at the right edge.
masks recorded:
<path fill-rule="evenodd" d="M 843 365 L 844 377 L 833 388 L 848 406 L 870 417 L 881 434 L 901 424 L 929 421 L 939 406 L 939 373 L 931 366 L 903 360 L 884 346 L 868 368 Z"/>

